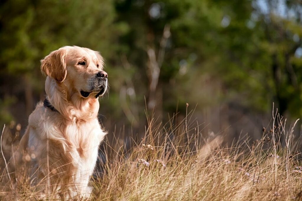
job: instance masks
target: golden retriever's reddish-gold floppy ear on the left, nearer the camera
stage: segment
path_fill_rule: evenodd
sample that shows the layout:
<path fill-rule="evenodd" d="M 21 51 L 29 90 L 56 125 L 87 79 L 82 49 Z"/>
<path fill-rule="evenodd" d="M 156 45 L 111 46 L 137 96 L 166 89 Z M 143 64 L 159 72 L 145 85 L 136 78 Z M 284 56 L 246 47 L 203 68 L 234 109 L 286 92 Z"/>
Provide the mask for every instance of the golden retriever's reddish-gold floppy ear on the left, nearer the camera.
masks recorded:
<path fill-rule="evenodd" d="M 41 60 L 41 72 L 52 77 L 58 82 L 63 82 L 67 75 L 66 50 L 60 48 L 50 52 L 48 56 Z"/>

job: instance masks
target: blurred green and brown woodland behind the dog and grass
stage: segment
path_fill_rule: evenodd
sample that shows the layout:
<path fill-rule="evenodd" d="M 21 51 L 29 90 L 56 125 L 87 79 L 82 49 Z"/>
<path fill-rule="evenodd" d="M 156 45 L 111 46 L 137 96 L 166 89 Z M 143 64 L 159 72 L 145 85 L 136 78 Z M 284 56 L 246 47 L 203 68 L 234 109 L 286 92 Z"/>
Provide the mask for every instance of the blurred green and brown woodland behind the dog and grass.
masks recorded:
<path fill-rule="evenodd" d="M 146 112 L 229 139 L 262 136 L 272 105 L 302 114 L 301 0 L 13 0 L 0 2 L 0 125 L 22 135 L 45 99 L 40 59 L 66 45 L 101 52 L 109 95 L 99 119 L 145 133 Z M 297 133 L 300 133 L 300 125 Z"/>

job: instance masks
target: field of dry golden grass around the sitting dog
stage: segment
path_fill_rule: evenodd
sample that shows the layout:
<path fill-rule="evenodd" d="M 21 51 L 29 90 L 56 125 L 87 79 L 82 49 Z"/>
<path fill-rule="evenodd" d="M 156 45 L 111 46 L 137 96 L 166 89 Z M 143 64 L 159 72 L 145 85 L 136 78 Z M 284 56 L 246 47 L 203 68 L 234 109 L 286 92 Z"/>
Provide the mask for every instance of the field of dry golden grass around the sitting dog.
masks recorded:
<path fill-rule="evenodd" d="M 148 115 L 147 115 L 148 116 Z M 130 149 L 107 141 L 91 200 L 301 200 L 302 164 L 293 128 L 277 113 L 262 139 L 247 136 L 223 146 L 222 135 L 204 137 L 190 118 L 165 125 L 148 118 L 145 137 Z M 261 129 L 261 128 L 259 128 Z M 273 140 L 283 135 L 284 146 Z M 119 142 L 119 143 L 118 143 Z M 5 171 L 3 173 L 4 177 Z M 27 181 L 1 189 L 3 197 L 35 200 Z M 54 199 L 56 192 L 48 195 Z"/>

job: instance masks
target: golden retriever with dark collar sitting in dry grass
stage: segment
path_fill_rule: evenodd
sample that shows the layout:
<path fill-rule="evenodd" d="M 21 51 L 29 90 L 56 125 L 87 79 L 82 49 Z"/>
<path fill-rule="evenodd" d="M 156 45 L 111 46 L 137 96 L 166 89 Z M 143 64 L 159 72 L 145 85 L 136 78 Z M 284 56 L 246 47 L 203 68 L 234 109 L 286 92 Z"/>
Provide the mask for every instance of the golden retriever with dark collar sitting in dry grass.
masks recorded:
<path fill-rule="evenodd" d="M 78 46 L 64 46 L 41 60 L 47 96 L 29 116 L 9 165 L 18 173 L 26 163 L 31 184 L 44 196 L 59 192 L 69 199 L 91 194 L 88 181 L 107 134 L 98 121 L 98 97 L 108 85 L 103 67 L 98 52 Z"/>

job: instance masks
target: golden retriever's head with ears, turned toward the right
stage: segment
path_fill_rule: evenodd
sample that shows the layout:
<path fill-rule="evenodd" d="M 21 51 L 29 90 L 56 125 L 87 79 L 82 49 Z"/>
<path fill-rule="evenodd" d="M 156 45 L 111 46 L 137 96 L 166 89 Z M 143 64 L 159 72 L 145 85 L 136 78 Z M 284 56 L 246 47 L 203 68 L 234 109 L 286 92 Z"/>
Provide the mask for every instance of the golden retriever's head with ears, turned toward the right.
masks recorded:
<path fill-rule="evenodd" d="M 65 46 L 41 60 L 41 72 L 58 84 L 64 83 L 70 96 L 98 98 L 107 89 L 108 74 L 102 56 L 91 49 Z"/>

